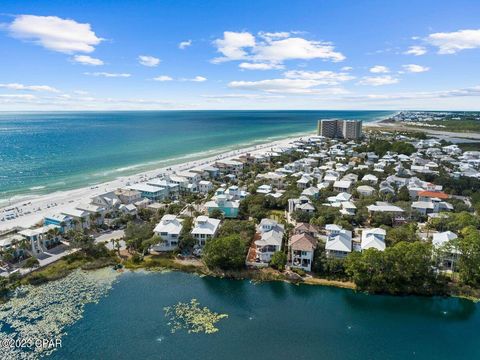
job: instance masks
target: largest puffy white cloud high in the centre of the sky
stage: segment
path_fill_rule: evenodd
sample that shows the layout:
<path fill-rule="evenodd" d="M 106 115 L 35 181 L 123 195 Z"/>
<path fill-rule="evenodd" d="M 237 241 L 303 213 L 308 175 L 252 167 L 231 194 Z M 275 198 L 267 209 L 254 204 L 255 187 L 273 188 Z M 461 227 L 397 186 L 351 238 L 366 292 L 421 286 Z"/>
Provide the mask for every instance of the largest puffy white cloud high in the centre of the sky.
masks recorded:
<path fill-rule="evenodd" d="M 265 34 L 277 34 L 268 37 Z M 282 34 L 279 37 L 278 34 Z M 345 56 L 335 51 L 329 42 L 289 37 L 288 33 L 261 33 L 261 40 L 249 32 L 225 31 L 222 39 L 214 41 L 217 51 L 223 56 L 213 59 L 214 63 L 233 60 L 281 64 L 286 60 L 323 59 L 342 61 Z"/>

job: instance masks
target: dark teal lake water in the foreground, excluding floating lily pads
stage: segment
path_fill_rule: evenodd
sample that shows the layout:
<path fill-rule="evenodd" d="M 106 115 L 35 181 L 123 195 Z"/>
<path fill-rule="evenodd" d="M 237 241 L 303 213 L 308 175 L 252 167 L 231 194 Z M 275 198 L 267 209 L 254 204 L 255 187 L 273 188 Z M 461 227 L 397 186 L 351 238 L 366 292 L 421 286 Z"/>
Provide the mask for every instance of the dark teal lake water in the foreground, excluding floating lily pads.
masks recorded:
<path fill-rule="evenodd" d="M 228 314 L 215 334 L 170 332 L 163 308 Z M 283 282 L 127 273 L 67 329 L 52 359 L 478 359 L 478 305 Z"/>

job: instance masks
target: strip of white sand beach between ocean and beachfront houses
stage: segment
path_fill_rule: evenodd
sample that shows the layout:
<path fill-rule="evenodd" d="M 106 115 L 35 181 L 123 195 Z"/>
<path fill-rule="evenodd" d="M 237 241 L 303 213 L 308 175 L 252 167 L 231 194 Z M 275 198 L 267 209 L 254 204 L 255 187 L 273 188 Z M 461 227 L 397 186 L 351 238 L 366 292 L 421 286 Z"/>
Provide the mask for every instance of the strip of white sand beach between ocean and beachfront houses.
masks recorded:
<path fill-rule="evenodd" d="M 4 217 L 6 209 L 14 208 L 14 211 L 19 214 L 19 216 L 15 219 L 0 221 L 0 231 L 8 230 L 14 227 L 31 227 L 37 223 L 40 223 L 47 215 L 58 214 L 66 210 L 73 209 L 79 204 L 89 203 L 92 197 L 125 187 L 127 183 L 131 185 L 145 182 L 152 178 L 158 177 L 161 174 L 171 174 L 180 170 L 183 171 L 202 165 L 213 164 L 216 160 L 235 158 L 246 153 L 262 153 L 271 150 L 273 147 L 285 146 L 292 141 L 304 137 L 308 137 L 308 135 L 286 138 L 270 143 L 242 148 L 239 150 L 228 151 L 205 159 L 171 165 L 156 170 L 142 172 L 136 175 L 119 177 L 115 180 L 93 187 L 88 186 L 75 190 L 58 191 L 51 194 L 33 197 L 27 200 L 24 198 L 23 200 L 18 200 L 17 202 L 13 202 L 8 206 L 0 208 L 0 219 Z M 28 212 L 30 213 L 26 214 Z"/>

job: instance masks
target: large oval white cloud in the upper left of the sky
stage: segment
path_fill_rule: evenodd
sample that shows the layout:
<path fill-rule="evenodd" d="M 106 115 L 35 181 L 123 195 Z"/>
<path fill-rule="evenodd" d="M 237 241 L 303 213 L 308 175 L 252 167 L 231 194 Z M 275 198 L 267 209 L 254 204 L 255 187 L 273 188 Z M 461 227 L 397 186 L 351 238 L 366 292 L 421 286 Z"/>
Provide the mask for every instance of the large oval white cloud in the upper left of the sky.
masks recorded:
<path fill-rule="evenodd" d="M 7 28 L 14 38 L 67 54 L 90 53 L 103 40 L 92 31 L 90 24 L 57 16 L 18 15 Z"/>

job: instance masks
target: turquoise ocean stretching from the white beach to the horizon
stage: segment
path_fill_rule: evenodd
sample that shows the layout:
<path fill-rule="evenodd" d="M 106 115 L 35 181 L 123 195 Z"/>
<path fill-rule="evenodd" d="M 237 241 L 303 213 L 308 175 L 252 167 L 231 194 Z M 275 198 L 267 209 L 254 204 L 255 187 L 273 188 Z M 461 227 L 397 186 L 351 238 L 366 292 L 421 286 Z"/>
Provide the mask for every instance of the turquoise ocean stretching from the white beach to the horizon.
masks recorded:
<path fill-rule="evenodd" d="M 0 199 L 72 189 L 386 111 L 0 113 Z"/>

